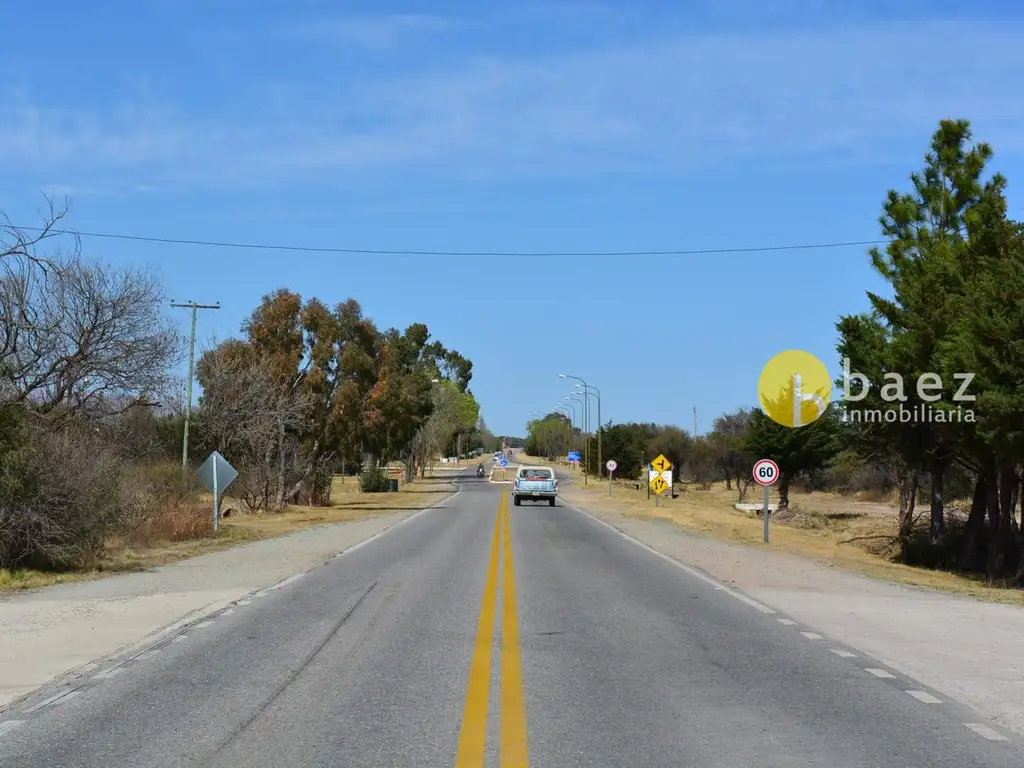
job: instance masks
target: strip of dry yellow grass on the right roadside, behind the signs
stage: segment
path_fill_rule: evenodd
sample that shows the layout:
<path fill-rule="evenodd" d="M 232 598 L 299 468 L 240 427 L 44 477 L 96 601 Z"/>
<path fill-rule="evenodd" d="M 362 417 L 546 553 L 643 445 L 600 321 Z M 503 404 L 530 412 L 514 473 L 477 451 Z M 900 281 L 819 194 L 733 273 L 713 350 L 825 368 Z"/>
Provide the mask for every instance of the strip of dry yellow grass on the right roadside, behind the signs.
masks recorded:
<path fill-rule="evenodd" d="M 530 461 L 535 461 L 530 459 Z M 539 460 L 543 461 L 543 460 Z M 547 463 L 547 462 L 545 462 Z M 710 538 L 759 549 L 808 557 L 830 567 L 992 602 L 1024 604 L 1024 590 L 989 585 L 984 579 L 912 567 L 894 561 L 897 554 L 898 511 L 891 500 L 877 495 L 840 496 L 828 493 L 790 492 L 790 514 L 772 519 L 771 542 L 764 543 L 764 522 L 757 512 L 735 508 L 737 493 L 717 483 L 709 490 L 677 485 L 678 498 L 668 495 L 655 502 L 646 487 L 634 490 L 620 481 L 612 483 L 608 497 L 607 479 L 590 477 L 585 486 L 580 472 L 560 493 L 570 503 L 579 502 L 641 519 L 662 519 Z M 753 485 L 744 503 L 761 504 L 763 492 Z M 774 488 L 769 503 L 778 502 Z M 963 504 L 948 505 L 951 515 L 963 515 Z M 927 510 L 919 510 L 919 515 Z M 924 521 L 923 521 L 924 522 Z"/>

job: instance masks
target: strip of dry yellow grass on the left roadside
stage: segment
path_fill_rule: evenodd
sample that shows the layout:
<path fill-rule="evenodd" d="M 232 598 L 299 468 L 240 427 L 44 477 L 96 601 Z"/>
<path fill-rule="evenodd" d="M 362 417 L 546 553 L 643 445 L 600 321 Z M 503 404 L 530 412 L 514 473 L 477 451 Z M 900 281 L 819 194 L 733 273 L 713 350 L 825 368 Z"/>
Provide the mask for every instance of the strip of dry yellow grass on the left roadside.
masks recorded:
<path fill-rule="evenodd" d="M 283 512 L 239 514 L 244 508 L 225 498 L 221 510 L 232 510 L 214 534 L 212 499 L 203 504 L 168 505 L 129 535 L 113 539 L 95 568 L 51 572 L 31 568 L 0 569 L 0 593 L 49 587 L 66 582 L 99 579 L 111 573 L 144 570 L 184 560 L 208 552 L 236 547 L 261 539 L 293 534 L 313 525 L 352 522 L 382 517 L 402 510 L 432 507 L 453 493 L 443 477 L 427 476 L 412 483 L 401 482 L 397 494 L 364 494 L 358 478 L 336 477 L 328 507 L 293 506 Z"/>

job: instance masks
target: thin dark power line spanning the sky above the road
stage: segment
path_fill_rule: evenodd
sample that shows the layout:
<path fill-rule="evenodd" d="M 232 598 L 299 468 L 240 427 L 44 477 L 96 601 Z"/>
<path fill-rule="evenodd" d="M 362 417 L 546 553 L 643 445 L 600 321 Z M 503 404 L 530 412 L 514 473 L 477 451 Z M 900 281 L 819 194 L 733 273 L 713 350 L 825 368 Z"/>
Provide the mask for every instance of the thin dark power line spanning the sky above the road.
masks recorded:
<path fill-rule="evenodd" d="M 42 227 L 18 226 L 26 231 L 41 232 Z M 86 232 L 76 229 L 50 229 L 53 234 L 73 234 L 80 238 L 101 238 L 104 240 L 129 240 L 141 243 L 160 243 L 177 246 L 205 246 L 208 248 L 239 248 L 255 251 L 299 251 L 303 253 L 336 253 L 366 256 L 494 256 L 494 257 L 528 257 L 528 256 L 700 256 L 724 253 L 768 253 L 772 251 L 809 251 L 818 248 L 854 248 L 878 246 L 888 243 L 885 240 L 855 240 L 835 243 L 804 243 L 786 246 L 751 246 L 746 248 L 697 248 L 677 251 L 414 251 L 406 249 L 384 250 L 378 248 L 315 248 L 312 246 L 282 246 L 268 243 L 229 243 L 214 240 L 182 240 L 177 238 L 155 238 L 141 234 L 120 234 L 115 232 Z"/>

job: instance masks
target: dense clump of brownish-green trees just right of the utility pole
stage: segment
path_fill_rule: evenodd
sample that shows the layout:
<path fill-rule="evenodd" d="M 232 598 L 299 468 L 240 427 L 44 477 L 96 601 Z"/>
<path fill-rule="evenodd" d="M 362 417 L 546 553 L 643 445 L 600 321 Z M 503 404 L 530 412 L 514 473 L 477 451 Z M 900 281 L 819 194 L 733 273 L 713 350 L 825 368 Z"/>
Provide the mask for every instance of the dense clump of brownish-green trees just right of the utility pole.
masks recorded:
<path fill-rule="evenodd" d="M 485 435 L 472 362 L 422 323 L 381 330 L 354 299 L 330 307 L 281 289 L 242 330 L 201 356 L 196 422 L 203 446 L 241 468 L 253 508 L 325 504 L 332 477 L 353 470 L 380 490 L 387 464 L 412 480 Z"/>

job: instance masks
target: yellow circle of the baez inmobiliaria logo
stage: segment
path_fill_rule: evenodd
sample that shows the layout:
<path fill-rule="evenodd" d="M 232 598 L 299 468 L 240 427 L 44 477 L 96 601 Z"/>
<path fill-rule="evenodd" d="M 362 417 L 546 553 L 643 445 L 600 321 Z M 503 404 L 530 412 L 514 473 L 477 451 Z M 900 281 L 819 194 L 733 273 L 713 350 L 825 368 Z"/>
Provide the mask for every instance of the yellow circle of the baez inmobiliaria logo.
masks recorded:
<path fill-rule="evenodd" d="M 761 369 L 761 409 L 783 427 L 806 427 L 825 413 L 833 382 L 824 364 L 810 352 L 787 349 Z"/>

